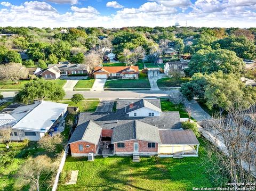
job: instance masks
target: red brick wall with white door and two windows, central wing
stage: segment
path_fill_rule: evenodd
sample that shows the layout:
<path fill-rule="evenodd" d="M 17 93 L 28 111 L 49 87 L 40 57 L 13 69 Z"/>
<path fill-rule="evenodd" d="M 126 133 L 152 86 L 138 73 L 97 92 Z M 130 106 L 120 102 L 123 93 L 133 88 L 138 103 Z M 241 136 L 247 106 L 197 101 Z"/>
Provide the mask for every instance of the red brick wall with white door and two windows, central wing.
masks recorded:
<path fill-rule="evenodd" d="M 132 155 L 134 153 L 134 145 L 133 143 L 139 143 L 139 151 L 135 152 L 140 155 L 156 155 L 157 154 L 157 147 L 158 144 L 156 143 L 155 148 L 149 148 L 148 143 L 145 140 L 127 140 L 126 142 L 119 142 L 124 143 L 124 148 L 117 148 L 117 143 L 114 144 L 114 151 L 116 155 Z"/>

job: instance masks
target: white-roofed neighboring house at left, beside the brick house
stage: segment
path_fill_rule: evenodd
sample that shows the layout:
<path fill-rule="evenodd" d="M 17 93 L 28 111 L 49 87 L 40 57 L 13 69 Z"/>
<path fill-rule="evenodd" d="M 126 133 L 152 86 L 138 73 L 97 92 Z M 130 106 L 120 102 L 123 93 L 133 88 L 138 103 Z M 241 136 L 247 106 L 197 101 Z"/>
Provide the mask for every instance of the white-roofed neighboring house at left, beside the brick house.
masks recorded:
<path fill-rule="evenodd" d="M 20 105 L 10 113 L 0 113 L 0 128 L 11 127 L 11 140 L 37 141 L 47 132 L 63 131 L 68 104 L 35 101 Z"/>

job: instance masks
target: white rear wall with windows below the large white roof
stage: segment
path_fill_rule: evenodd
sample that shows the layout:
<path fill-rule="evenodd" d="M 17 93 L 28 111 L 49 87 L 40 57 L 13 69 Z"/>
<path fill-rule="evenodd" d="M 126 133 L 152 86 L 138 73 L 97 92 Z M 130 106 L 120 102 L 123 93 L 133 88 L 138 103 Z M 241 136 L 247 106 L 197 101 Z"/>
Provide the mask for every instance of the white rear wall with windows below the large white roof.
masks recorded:
<path fill-rule="evenodd" d="M 14 135 L 14 132 L 17 132 L 17 136 Z M 26 136 L 25 132 L 35 132 L 35 131 L 12 129 L 11 140 L 19 141 L 19 140 L 29 139 L 31 141 L 37 141 L 44 136 L 43 132 L 35 132 L 36 133 L 35 136 Z"/>

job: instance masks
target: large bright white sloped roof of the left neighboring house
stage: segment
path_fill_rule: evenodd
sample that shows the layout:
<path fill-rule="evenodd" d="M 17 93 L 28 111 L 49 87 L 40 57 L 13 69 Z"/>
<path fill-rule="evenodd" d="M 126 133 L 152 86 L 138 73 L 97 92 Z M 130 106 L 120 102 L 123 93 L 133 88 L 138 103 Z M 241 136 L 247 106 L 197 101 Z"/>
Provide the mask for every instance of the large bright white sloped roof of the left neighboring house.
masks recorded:
<path fill-rule="evenodd" d="M 68 104 L 45 101 L 39 102 L 33 110 L 27 110 L 27 114 L 23 116 L 12 128 L 47 132 L 67 107 Z"/>

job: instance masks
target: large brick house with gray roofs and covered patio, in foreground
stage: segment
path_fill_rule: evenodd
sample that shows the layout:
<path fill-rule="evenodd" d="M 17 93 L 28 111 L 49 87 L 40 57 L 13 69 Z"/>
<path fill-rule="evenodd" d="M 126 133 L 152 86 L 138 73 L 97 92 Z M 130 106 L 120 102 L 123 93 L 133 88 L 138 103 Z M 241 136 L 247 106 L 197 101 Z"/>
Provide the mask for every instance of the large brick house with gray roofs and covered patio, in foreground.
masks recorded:
<path fill-rule="evenodd" d="M 163 112 L 160 99 L 118 99 L 116 112 L 82 112 L 68 142 L 72 156 L 198 156 L 199 142 L 181 128 L 179 112 Z"/>

